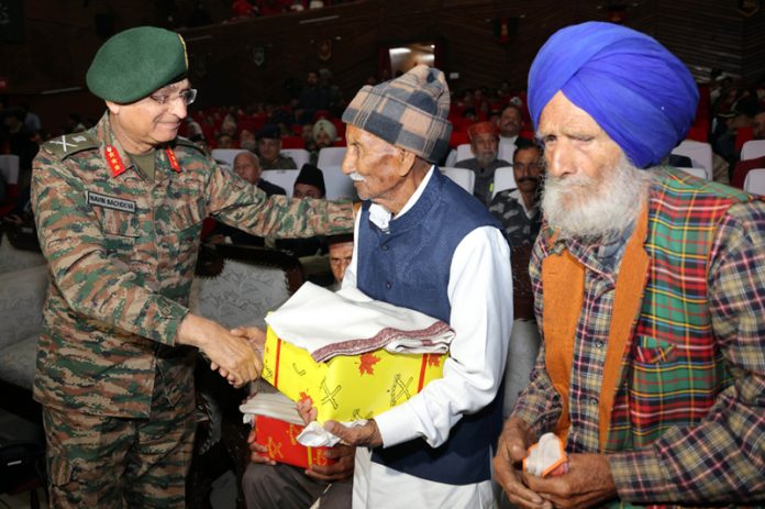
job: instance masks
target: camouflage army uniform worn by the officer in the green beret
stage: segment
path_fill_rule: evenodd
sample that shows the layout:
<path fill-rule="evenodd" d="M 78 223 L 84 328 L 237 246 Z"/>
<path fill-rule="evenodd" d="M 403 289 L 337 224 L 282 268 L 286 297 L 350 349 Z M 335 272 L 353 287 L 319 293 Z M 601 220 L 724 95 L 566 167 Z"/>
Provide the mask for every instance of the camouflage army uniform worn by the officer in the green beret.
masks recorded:
<path fill-rule="evenodd" d="M 182 139 L 157 148 L 152 181 L 132 165 L 108 114 L 42 146 L 32 202 L 51 274 L 34 397 L 45 409 L 52 493 L 62 497 L 52 507 L 125 504 L 99 477 L 124 465 L 129 449 L 142 466 L 124 472 L 126 504 L 182 507 L 196 350 L 175 340 L 189 311 L 202 221 L 314 236 L 352 231 L 351 204 L 266 198 Z M 157 456 L 162 468 L 146 472 Z M 75 478 L 80 484 L 67 486 Z"/>

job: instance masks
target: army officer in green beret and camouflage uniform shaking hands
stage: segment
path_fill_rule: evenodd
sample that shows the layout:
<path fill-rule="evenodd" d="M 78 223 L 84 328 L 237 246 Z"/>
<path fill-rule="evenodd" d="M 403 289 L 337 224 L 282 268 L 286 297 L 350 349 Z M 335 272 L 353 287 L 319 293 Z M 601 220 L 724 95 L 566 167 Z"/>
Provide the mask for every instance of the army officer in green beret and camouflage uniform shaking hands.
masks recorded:
<path fill-rule="evenodd" d="M 52 279 L 34 380 L 51 507 L 185 507 L 197 348 L 232 385 L 258 376 L 245 338 L 189 311 L 204 218 L 263 236 L 351 231 L 350 204 L 267 198 L 178 137 L 197 97 L 187 70 L 176 33 L 114 35 L 87 76 L 106 114 L 34 162 Z"/>

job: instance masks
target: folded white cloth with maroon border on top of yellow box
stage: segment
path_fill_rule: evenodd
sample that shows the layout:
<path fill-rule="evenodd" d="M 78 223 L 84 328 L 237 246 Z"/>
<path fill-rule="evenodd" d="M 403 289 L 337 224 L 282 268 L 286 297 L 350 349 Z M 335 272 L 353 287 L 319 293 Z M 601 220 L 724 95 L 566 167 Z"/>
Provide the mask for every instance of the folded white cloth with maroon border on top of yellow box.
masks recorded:
<path fill-rule="evenodd" d="M 268 314 L 266 322 L 317 362 L 378 348 L 442 354 L 454 339 L 447 323 L 419 311 L 373 300 L 354 287 L 333 292 L 311 283 Z"/>

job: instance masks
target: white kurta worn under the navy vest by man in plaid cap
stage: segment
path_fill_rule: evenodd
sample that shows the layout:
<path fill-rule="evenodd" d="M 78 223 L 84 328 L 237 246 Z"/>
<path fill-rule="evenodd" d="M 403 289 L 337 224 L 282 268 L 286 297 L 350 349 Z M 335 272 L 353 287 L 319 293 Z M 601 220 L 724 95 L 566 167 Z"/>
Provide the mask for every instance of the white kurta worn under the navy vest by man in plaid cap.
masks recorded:
<path fill-rule="evenodd" d="M 399 217 L 417 203 L 433 170 L 431 167 Z M 387 230 L 390 213 L 382 207 L 373 204 L 369 218 Z M 358 224 L 357 219 L 356 239 Z M 354 246 L 343 286 L 356 286 L 356 251 Z M 510 250 L 499 230 L 477 228 L 459 242 L 452 257 L 447 295 L 456 338 L 444 363 L 444 376 L 375 418 L 384 447 L 413 439 L 437 447 L 463 414 L 479 411 L 497 395 L 512 327 Z M 490 480 L 453 486 L 421 479 L 372 462 L 366 449 L 357 450 L 353 483 L 354 509 L 494 507 Z"/>

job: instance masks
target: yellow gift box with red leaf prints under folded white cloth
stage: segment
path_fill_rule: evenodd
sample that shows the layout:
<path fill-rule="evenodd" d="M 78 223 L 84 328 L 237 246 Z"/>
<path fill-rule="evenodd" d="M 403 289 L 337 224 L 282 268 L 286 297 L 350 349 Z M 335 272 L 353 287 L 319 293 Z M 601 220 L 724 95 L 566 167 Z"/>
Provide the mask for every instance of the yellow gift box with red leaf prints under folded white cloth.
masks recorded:
<path fill-rule="evenodd" d="M 319 422 L 354 421 L 372 419 L 441 378 L 446 356 L 375 350 L 317 363 L 306 350 L 282 341 L 269 327 L 262 377 L 292 401 L 310 400 Z"/>

